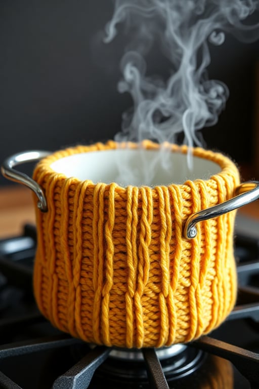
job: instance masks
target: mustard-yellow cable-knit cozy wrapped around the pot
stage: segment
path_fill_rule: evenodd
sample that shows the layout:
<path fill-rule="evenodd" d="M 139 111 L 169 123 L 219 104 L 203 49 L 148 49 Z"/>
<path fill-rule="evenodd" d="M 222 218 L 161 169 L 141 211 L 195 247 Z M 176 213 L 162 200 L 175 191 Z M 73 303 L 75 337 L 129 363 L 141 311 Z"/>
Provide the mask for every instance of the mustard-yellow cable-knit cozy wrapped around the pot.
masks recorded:
<path fill-rule="evenodd" d="M 183 227 L 191 214 L 233 197 L 238 170 L 202 148 L 193 154 L 218 164 L 220 173 L 153 188 L 80 181 L 50 167 L 68 155 L 117 147 L 109 141 L 68 148 L 34 170 L 48 203 L 46 213 L 36 208 L 38 307 L 54 326 L 87 342 L 189 342 L 219 326 L 235 303 L 235 211 L 198 223 L 192 240 L 183 238 Z M 187 153 L 186 146 L 170 147 Z"/>

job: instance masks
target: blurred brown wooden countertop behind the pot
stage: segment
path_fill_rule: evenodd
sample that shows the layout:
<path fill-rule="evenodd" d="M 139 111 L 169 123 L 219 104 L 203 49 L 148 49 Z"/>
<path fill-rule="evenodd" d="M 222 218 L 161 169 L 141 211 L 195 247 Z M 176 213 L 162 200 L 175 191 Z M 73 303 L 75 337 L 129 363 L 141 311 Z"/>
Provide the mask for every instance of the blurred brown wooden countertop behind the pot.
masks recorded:
<path fill-rule="evenodd" d="M 259 201 L 238 212 L 259 219 Z M 0 239 L 21 234 L 25 223 L 35 224 L 31 190 L 21 185 L 0 188 Z"/>

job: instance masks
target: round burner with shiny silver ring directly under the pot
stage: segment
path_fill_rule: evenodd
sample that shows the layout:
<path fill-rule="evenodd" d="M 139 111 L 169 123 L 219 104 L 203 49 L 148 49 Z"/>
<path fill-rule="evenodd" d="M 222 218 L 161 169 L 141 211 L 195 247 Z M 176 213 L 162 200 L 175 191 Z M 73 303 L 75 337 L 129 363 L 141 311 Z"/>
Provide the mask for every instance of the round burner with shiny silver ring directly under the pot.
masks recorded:
<path fill-rule="evenodd" d="M 158 366 L 167 382 L 175 381 L 194 373 L 202 366 L 205 359 L 205 353 L 182 345 L 172 346 L 167 350 L 165 348 L 157 350 L 143 348 L 138 351 L 112 349 L 109 357 L 96 371 L 93 383 L 105 377 L 105 380 L 110 382 L 110 387 L 142 387 L 134 385 L 147 385 L 150 376 L 157 373 Z"/>

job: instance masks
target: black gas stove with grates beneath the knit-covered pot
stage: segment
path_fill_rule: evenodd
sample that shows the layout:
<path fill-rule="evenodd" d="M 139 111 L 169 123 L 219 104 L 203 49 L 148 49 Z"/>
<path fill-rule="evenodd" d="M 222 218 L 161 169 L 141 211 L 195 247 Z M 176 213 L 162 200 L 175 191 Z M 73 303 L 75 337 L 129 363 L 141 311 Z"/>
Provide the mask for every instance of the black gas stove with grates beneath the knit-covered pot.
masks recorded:
<path fill-rule="evenodd" d="M 96 346 L 55 329 L 33 298 L 35 227 L 0 241 L 0 388 L 258 389 L 259 229 L 245 223 L 235 240 L 238 300 L 226 322 L 160 349 Z"/>

